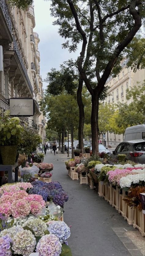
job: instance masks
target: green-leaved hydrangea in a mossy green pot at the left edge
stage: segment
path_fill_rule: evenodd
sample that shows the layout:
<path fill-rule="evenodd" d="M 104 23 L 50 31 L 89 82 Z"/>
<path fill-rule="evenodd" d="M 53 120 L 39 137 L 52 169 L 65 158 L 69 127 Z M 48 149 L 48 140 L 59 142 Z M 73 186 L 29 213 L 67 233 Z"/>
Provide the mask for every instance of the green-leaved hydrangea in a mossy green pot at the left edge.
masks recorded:
<path fill-rule="evenodd" d="M 22 142 L 21 132 L 23 127 L 20 125 L 18 117 L 9 117 L 9 110 L 0 116 L 0 151 L 3 165 L 13 165 L 16 160 L 17 147 Z"/>

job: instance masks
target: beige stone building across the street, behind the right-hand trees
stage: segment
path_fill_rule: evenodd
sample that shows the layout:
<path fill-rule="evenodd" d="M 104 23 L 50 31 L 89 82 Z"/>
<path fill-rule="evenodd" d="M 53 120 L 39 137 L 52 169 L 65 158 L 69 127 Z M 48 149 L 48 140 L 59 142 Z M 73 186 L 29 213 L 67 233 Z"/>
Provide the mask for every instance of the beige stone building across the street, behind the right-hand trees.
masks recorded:
<path fill-rule="evenodd" d="M 140 69 L 137 70 L 136 73 L 134 73 L 130 67 L 127 67 L 127 60 L 121 63 L 121 67 L 121 72 L 117 75 L 117 77 L 110 77 L 106 82 L 106 86 L 110 87 L 110 89 L 108 90 L 108 96 L 104 101 L 106 103 L 117 104 L 118 102 L 122 102 L 130 104 L 133 99 L 126 99 L 126 90 L 133 88 L 137 85 L 137 82 L 143 82 L 143 80 L 145 79 L 145 70 Z M 104 139 L 107 140 L 107 134 L 104 137 Z M 117 143 L 115 143 L 115 135 L 113 133 L 109 133 L 109 145 L 111 147 L 116 147 L 121 141 L 123 141 L 122 134 L 116 134 Z"/>

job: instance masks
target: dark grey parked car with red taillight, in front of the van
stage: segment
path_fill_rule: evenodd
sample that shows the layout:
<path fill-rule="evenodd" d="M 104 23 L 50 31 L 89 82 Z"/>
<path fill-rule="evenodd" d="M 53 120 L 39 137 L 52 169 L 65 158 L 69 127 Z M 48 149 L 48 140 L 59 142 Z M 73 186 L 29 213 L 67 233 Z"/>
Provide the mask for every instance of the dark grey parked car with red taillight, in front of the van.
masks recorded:
<path fill-rule="evenodd" d="M 118 154 L 126 154 L 127 159 L 136 163 L 145 163 L 145 140 L 131 140 L 119 143 L 115 150 L 113 150 L 110 157 L 117 159 Z"/>

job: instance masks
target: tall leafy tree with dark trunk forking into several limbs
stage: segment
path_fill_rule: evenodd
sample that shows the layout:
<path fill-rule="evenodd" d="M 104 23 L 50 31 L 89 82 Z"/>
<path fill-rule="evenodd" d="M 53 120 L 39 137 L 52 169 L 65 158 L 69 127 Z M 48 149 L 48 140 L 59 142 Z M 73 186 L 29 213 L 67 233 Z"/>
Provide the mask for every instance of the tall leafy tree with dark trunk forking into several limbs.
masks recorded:
<path fill-rule="evenodd" d="M 114 76 L 119 72 L 125 47 L 141 27 L 142 1 L 51 2 L 51 14 L 57 18 L 54 25 L 60 26 L 58 32 L 65 38 L 62 46 L 71 52 L 82 43 L 78 70 L 91 94 L 92 151 L 98 154 L 99 97 L 111 72 Z"/>

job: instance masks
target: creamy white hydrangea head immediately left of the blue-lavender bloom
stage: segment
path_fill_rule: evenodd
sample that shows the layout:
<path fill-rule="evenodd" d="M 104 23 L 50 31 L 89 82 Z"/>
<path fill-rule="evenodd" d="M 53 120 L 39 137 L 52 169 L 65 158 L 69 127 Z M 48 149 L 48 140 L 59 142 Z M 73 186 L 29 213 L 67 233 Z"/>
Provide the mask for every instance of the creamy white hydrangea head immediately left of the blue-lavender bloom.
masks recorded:
<path fill-rule="evenodd" d="M 43 236 L 44 231 L 47 230 L 47 225 L 39 218 L 28 219 L 23 226 L 28 226 L 34 231 L 35 236 Z"/>

